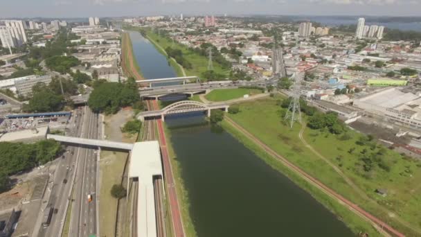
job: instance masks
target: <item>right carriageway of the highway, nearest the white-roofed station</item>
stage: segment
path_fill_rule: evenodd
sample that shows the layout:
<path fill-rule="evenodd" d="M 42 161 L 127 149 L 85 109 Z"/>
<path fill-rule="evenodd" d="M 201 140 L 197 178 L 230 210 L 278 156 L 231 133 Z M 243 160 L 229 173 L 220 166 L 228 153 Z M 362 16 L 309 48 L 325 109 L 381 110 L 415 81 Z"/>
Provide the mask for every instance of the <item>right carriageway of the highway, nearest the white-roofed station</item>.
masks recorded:
<path fill-rule="evenodd" d="M 87 107 L 82 123 L 80 137 L 89 139 L 99 138 L 99 116 Z M 76 170 L 73 205 L 71 211 L 70 236 L 97 235 L 97 167 L 98 150 L 80 148 Z M 88 195 L 92 195 L 89 202 Z"/>

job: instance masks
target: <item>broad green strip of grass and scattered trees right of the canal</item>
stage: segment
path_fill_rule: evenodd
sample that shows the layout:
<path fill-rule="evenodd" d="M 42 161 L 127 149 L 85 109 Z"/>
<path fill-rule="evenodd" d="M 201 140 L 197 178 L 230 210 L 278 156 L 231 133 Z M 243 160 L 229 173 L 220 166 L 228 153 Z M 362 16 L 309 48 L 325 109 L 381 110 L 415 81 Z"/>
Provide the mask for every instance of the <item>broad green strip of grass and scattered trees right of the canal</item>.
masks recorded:
<path fill-rule="evenodd" d="M 420 187 L 417 181 L 421 179 L 420 162 L 384 148 L 373 137 L 332 123 L 335 119 L 332 114 L 322 115 L 307 107 L 303 121 L 312 129 L 305 129 L 305 141 L 339 168 L 358 187 L 356 190 L 299 139 L 301 125 L 296 123 L 289 128 L 283 120 L 284 100 L 277 97 L 241 103 L 240 112 L 228 116 L 340 195 L 404 234 L 417 236 L 421 225 L 418 198 L 421 188 L 416 188 Z M 310 112 L 314 115 L 305 115 Z M 386 197 L 375 193 L 376 189 L 386 189 Z"/>

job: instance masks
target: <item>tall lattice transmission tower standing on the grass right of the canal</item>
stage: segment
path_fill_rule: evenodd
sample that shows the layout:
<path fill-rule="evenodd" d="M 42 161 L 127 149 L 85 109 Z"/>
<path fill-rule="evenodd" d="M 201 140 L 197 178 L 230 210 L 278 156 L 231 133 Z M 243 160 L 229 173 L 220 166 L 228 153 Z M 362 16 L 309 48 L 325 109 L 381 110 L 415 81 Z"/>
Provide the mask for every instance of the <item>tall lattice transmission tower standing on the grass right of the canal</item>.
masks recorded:
<path fill-rule="evenodd" d="M 285 121 L 289 125 L 294 125 L 295 121 L 301 123 L 301 108 L 300 108 L 300 90 L 301 90 L 301 81 L 304 78 L 304 73 L 296 73 L 295 81 L 292 88 L 292 99 L 289 103 L 287 113 L 285 114 Z"/>

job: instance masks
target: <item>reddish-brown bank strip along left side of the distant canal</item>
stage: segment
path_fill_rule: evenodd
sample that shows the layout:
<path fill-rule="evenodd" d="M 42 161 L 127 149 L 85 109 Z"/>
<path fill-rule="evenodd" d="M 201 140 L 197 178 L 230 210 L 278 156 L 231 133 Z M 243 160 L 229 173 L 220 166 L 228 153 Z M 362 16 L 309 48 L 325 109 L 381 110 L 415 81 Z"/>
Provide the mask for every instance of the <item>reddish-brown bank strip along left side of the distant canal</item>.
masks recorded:
<path fill-rule="evenodd" d="M 123 62 L 121 62 L 123 71 L 126 76 L 130 76 L 140 80 L 143 78 L 141 68 L 138 65 L 136 57 L 134 57 L 133 44 L 130 39 L 129 33 L 123 33 L 122 37 L 122 52 L 123 52 Z"/>

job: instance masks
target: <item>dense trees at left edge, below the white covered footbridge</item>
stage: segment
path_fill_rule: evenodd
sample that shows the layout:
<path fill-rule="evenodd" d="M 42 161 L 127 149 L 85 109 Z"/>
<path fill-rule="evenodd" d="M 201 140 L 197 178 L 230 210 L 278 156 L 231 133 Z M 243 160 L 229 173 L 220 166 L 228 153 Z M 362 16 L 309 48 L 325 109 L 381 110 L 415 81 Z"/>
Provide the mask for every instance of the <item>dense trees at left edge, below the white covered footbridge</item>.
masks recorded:
<path fill-rule="evenodd" d="M 30 144 L 0 142 L 0 150 L 0 191 L 4 191 L 9 175 L 52 161 L 62 153 L 62 146 L 53 140 Z"/>

